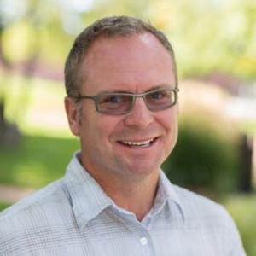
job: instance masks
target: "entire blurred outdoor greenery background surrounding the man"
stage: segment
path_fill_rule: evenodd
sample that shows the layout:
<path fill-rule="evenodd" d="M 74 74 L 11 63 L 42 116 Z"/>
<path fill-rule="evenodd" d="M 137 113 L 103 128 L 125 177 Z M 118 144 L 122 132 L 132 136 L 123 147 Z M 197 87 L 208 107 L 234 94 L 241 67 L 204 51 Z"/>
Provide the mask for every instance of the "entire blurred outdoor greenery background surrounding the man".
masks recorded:
<path fill-rule="evenodd" d="M 64 113 L 73 39 L 106 15 L 166 33 L 180 79 L 172 183 L 228 209 L 256 255 L 256 2 L 0 0 L 0 210 L 63 176 L 79 142 Z"/>

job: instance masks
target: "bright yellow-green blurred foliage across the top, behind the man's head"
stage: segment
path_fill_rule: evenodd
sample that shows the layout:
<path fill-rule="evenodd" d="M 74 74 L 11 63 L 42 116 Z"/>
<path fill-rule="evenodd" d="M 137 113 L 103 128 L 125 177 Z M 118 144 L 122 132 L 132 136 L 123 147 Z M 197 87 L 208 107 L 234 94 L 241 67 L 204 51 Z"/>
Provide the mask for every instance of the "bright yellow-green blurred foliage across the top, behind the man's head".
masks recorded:
<path fill-rule="evenodd" d="M 61 64 L 74 36 L 92 21 L 106 15 L 134 15 L 166 32 L 181 77 L 216 71 L 255 77 L 255 1 L 0 0 L 0 7 L 1 3 L 3 52 L 9 61 L 37 55 Z"/>

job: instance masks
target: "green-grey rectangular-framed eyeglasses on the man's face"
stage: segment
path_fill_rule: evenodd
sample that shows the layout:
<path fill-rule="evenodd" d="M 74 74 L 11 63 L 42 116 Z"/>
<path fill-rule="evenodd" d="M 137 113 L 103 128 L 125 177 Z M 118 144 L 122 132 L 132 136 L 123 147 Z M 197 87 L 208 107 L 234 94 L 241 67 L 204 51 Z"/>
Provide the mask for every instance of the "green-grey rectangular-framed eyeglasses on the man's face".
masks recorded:
<path fill-rule="evenodd" d="M 102 93 L 96 96 L 74 96 L 75 100 L 90 99 L 95 102 L 96 111 L 105 114 L 131 112 L 137 97 L 142 97 L 150 111 L 171 108 L 177 102 L 178 88 L 152 90 L 145 93 Z"/>

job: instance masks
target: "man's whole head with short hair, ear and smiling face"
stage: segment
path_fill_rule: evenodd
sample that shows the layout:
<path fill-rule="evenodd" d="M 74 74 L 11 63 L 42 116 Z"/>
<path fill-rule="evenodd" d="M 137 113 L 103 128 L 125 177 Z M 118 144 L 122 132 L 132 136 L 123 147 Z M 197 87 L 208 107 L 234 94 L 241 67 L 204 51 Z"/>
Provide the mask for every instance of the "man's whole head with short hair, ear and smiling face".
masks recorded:
<path fill-rule="evenodd" d="M 97 180 L 157 175 L 177 141 L 177 104 L 155 108 L 158 103 L 163 106 L 166 94 L 149 94 L 148 100 L 141 95 L 177 88 L 172 47 L 163 34 L 129 17 L 97 21 L 75 41 L 66 79 L 67 117 L 73 134 L 80 137 L 82 164 L 88 172 Z M 109 98 L 106 93 L 139 97 L 129 111 L 111 114 L 116 106 L 123 108 L 127 97 Z M 108 113 L 97 112 L 96 102 L 86 98 L 79 100 L 79 116 L 73 96 L 102 94 L 100 103 L 103 108 L 108 105 Z"/>

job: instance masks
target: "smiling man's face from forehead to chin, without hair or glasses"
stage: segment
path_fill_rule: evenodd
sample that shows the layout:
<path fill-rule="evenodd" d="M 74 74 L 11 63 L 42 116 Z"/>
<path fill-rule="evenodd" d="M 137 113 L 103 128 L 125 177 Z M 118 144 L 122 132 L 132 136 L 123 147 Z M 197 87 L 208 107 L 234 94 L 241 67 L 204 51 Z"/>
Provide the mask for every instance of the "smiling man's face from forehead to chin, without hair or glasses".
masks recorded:
<path fill-rule="evenodd" d="M 172 58 L 149 33 L 97 39 L 85 56 L 83 73 L 85 96 L 175 87 Z M 76 127 L 72 130 L 80 137 L 88 172 L 98 177 L 144 177 L 159 171 L 177 141 L 177 105 L 151 112 L 143 98 L 137 98 L 131 113 L 108 115 L 97 113 L 92 100 L 83 100 L 81 124 Z"/>

